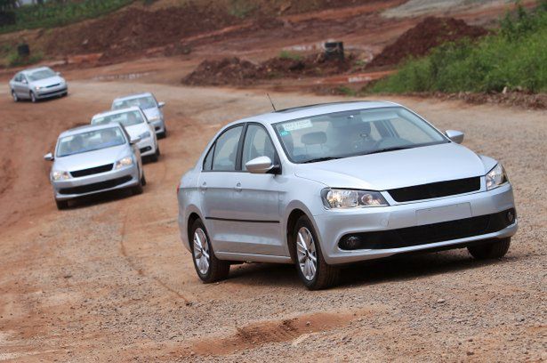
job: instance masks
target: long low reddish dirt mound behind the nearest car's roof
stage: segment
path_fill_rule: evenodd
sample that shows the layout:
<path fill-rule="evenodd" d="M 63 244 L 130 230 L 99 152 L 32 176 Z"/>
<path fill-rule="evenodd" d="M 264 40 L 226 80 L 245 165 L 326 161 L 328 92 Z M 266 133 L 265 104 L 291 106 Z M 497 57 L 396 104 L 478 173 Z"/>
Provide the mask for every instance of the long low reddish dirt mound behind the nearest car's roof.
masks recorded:
<path fill-rule="evenodd" d="M 325 77 L 346 73 L 353 69 L 355 56 L 345 60 L 326 60 L 323 54 L 300 58 L 271 58 L 260 64 L 237 57 L 204 60 L 192 73 L 182 79 L 185 85 L 250 85 L 261 79 Z"/>

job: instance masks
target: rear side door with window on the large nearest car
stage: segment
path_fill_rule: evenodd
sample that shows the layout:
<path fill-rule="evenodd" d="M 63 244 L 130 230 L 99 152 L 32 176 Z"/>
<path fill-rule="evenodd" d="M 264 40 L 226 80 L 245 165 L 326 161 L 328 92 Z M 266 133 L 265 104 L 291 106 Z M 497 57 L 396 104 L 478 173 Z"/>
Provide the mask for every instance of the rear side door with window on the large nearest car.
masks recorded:
<path fill-rule="evenodd" d="M 243 124 L 221 133 L 209 149 L 199 176 L 201 211 L 217 252 L 235 252 L 234 244 L 238 240 L 233 223 L 234 181 L 242 132 Z"/>

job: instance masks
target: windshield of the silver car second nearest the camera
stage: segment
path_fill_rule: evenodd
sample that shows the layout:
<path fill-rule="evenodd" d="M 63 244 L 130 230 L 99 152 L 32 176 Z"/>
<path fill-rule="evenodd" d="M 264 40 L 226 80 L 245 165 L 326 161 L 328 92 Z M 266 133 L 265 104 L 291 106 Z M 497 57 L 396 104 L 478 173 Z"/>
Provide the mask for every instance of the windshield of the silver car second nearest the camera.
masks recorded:
<path fill-rule="evenodd" d="M 76 133 L 59 140 L 57 143 L 57 157 L 66 157 L 123 144 L 125 144 L 125 137 L 119 127 Z"/>

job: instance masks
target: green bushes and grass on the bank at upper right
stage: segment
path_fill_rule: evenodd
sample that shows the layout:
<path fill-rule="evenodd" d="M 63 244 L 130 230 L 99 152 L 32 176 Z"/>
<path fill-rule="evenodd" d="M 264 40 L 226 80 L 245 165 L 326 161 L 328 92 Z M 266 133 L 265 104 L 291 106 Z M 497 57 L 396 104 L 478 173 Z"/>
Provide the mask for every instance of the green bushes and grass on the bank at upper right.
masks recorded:
<path fill-rule="evenodd" d="M 533 12 L 518 6 L 501 28 L 478 43 L 443 44 L 421 59 L 407 60 L 398 73 L 366 91 L 408 92 L 547 92 L 547 0 Z"/>

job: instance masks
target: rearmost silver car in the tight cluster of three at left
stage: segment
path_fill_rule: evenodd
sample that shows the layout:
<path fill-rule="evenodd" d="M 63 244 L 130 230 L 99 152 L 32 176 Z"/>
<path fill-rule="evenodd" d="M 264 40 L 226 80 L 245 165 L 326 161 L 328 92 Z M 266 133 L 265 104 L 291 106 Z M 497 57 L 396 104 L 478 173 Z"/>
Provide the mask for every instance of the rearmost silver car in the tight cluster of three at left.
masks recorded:
<path fill-rule="evenodd" d="M 157 137 L 163 139 L 167 136 L 163 111 L 165 102 L 158 102 L 152 93 L 132 94 L 119 97 L 112 102 L 112 109 L 125 109 L 132 106 L 140 107 L 144 111 L 149 123 L 154 126 Z"/>

